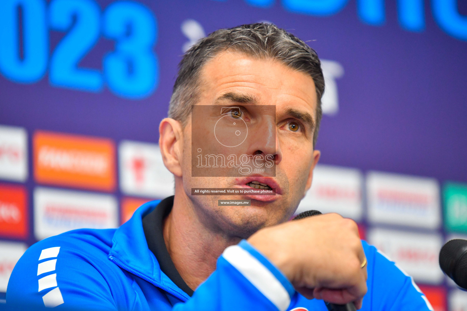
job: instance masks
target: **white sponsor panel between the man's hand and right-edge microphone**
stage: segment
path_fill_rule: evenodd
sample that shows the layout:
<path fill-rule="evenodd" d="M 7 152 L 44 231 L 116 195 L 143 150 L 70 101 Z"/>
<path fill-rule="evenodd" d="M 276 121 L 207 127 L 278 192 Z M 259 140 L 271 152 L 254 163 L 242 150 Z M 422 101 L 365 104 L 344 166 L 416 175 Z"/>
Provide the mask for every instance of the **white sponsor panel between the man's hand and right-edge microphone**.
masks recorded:
<path fill-rule="evenodd" d="M 438 234 L 403 232 L 372 228 L 368 242 L 386 254 L 415 281 L 439 284 L 444 274 L 439 268 L 439 249 L 443 238 Z"/>

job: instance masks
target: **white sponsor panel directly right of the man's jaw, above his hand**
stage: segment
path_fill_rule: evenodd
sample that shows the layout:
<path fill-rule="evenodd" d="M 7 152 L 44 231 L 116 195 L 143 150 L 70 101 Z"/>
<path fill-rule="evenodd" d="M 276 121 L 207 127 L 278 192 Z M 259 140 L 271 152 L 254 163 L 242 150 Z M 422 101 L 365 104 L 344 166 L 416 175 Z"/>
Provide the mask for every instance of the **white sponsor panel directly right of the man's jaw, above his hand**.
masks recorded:
<path fill-rule="evenodd" d="M 338 213 L 361 220 L 362 174 L 354 168 L 318 165 L 313 171 L 313 182 L 297 212 L 316 209 L 322 213 Z"/>

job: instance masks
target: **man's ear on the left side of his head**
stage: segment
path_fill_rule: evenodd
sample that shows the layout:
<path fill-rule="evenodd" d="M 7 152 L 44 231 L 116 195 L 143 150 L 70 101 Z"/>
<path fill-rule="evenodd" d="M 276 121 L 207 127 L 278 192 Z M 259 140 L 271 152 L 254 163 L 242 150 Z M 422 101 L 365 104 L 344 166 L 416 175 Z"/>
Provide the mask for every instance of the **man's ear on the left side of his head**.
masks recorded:
<path fill-rule="evenodd" d="M 166 117 L 159 124 L 159 148 L 165 167 L 182 177 L 183 130 L 177 120 Z"/>

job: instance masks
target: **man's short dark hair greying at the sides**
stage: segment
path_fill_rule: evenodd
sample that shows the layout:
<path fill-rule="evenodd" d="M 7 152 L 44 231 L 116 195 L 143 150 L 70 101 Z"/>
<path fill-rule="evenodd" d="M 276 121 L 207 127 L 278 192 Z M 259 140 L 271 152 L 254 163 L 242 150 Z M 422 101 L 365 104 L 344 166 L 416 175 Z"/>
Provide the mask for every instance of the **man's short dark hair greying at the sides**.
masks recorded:
<path fill-rule="evenodd" d="M 170 98 L 169 117 L 183 126 L 196 104 L 200 93 L 199 73 L 203 65 L 221 50 L 231 48 L 260 59 L 274 58 L 290 68 L 302 71 L 313 78 L 318 103 L 316 107 L 313 147 L 318 138 L 322 117 L 321 97 L 324 77 L 321 62 L 315 50 L 304 41 L 274 24 L 255 23 L 229 29 L 219 29 L 199 40 L 183 56 L 178 65 L 178 75 Z"/>

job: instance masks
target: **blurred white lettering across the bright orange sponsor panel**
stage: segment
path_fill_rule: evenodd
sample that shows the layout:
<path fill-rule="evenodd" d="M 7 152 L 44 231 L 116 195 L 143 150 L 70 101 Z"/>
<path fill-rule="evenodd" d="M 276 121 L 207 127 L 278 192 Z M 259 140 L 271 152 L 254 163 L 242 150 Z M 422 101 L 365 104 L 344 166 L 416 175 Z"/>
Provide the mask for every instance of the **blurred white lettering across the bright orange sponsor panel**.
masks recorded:
<path fill-rule="evenodd" d="M 81 150 L 63 150 L 43 146 L 39 151 L 38 161 L 42 166 L 72 173 L 106 175 L 108 159 L 99 152 Z"/>

